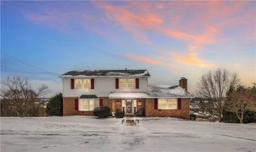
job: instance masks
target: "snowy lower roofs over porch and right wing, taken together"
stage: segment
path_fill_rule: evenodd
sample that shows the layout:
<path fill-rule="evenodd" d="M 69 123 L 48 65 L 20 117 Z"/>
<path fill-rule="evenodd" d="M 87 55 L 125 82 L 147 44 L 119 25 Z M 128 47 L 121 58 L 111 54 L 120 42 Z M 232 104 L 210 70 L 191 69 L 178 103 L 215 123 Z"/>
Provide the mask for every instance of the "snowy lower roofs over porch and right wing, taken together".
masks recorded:
<path fill-rule="evenodd" d="M 154 97 L 193 97 L 181 86 L 153 86 L 149 85 L 145 93 L 112 92 L 109 98 L 154 98 Z"/>

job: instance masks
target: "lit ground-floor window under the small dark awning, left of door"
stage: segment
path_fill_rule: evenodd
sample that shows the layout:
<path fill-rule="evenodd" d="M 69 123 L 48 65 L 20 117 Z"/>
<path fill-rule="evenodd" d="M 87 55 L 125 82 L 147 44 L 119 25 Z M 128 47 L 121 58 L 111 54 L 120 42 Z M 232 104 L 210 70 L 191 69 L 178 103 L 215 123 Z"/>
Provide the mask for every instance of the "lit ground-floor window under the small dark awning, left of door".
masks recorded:
<path fill-rule="evenodd" d="M 79 111 L 93 111 L 95 107 L 99 107 L 98 99 L 79 99 Z"/>

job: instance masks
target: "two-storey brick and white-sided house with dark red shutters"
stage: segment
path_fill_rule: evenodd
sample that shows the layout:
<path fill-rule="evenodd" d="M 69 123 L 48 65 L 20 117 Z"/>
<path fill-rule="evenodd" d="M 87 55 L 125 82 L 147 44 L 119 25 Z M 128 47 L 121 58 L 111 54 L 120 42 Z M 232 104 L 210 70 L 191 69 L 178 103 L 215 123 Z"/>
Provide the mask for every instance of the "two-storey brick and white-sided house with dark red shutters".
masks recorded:
<path fill-rule="evenodd" d="M 140 108 L 146 117 L 189 119 L 188 80 L 179 85 L 148 85 L 147 70 L 73 70 L 60 76 L 63 83 L 63 115 L 93 115 L 93 109 L 107 106 L 133 115 Z"/>

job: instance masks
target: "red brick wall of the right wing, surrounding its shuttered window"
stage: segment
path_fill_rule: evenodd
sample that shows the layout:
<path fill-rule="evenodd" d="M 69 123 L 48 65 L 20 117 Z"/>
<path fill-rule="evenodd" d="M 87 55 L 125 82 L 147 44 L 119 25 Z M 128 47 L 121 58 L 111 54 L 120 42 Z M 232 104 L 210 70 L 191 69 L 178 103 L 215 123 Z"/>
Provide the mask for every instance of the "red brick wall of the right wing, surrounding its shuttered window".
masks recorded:
<path fill-rule="evenodd" d="M 145 102 L 145 115 L 146 117 L 182 117 L 184 119 L 190 119 L 190 99 L 181 99 L 180 110 L 162 110 L 154 109 L 154 99 L 146 99 Z"/>

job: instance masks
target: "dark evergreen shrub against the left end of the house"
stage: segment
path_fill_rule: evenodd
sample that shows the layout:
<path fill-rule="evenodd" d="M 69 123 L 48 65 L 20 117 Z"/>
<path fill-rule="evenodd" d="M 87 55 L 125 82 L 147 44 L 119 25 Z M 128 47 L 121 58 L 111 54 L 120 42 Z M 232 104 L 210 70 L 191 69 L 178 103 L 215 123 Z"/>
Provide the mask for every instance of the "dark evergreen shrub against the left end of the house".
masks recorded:
<path fill-rule="evenodd" d="M 59 93 L 54 97 L 51 97 L 51 99 L 49 100 L 46 106 L 46 113 L 48 115 L 62 116 L 62 111 L 63 111 L 62 102 L 63 102 L 62 93 Z"/>

